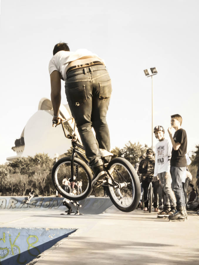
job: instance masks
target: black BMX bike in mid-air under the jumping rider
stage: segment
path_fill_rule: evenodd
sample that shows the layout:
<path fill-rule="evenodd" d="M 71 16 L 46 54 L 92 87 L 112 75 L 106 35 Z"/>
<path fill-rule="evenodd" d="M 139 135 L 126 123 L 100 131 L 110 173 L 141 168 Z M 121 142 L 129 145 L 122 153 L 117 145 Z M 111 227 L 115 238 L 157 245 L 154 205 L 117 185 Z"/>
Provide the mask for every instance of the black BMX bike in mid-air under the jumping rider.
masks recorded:
<path fill-rule="evenodd" d="M 62 129 L 66 138 L 71 139 L 72 155 L 59 159 L 52 169 L 52 180 L 56 190 L 65 198 L 75 201 L 83 200 L 92 192 L 92 171 L 89 168 L 89 161 L 85 158 L 84 147 L 80 145 L 77 136 L 75 136 L 75 126 L 72 133 L 66 135 L 65 122 L 73 119 L 70 117 L 61 121 Z M 77 155 L 80 157 L 78 158 Z M 107 195 L 112 203 L 124 212 L 133 211 L 140 200 L 141 188 L 139 177 L 134 167 L 124 158 L 112 158 L 109 163 L 102 157 L 104 170 L 107 177 L 102 180 L 101 185 L 105 186 Z M 70 194 L 64 190 L 63 178 L 82 182 L 81 194 Z"/>

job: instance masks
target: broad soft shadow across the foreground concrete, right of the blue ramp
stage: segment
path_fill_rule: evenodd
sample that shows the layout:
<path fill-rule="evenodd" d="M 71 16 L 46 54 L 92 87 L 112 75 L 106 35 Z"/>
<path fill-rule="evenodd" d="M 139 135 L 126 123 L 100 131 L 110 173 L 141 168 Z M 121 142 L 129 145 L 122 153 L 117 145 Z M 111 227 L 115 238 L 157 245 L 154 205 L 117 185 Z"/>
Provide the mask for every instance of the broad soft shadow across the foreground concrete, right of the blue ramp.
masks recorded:
<path fill-rule="evenodd" d="M 175 251 L 173 251 L 174 248 Z M 82 253 L 82 249 L 89 250 L 86 252 L 87 255 Z M 82 256 L 80 253 L 82 253 Z M 63 257 L 59 260 L 59 265 L 66 264 L 66 260 L 70 260 L 73 265 L 191 265 L 198 264 L 199 257 L 197 251 L 192 251 L 191 248 L 182 249 L 178 247 L 176 252 L 175 245 L 124 240 L 107 243 L 78 236 L 73 237 L 70 244 L 62 244 L 56 249 L 55 254 Z M 50 257 L 46 256 L 45 260 L 41 260 L 39 264 L 49 265 L 54 263 L 50 262 Z"/>

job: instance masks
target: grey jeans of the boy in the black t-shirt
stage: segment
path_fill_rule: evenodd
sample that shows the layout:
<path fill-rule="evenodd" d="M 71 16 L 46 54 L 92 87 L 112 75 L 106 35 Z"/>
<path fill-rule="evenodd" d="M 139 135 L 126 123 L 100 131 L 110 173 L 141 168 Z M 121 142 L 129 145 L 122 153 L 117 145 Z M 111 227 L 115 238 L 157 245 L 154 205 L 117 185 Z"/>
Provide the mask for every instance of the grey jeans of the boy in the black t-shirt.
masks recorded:
<path fill-rule="evenodd" d="M 182 186 L 182 177 L 185 170 L 186 167 L 174 167 L 174 166 L 171 166 L 170 169 L 171 178 L 172 178 L 171 188 L 176 196 L 177 208 L 179 206 L 185 206 L 185 196 Z"/>

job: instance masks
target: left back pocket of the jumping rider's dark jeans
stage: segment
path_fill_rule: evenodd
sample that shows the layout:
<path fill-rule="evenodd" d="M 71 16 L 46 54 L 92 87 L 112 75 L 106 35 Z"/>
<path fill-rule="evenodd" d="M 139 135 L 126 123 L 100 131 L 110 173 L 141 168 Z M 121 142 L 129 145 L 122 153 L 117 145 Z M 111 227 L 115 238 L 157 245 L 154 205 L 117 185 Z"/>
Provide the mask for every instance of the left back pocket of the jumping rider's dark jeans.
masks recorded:
<path fill-rule="evenodd" d="M 87 100 L 85 85 L 82 85 L 81 87 L 68 88 L 67 92 L 72 105 L 78 107 Z"/>

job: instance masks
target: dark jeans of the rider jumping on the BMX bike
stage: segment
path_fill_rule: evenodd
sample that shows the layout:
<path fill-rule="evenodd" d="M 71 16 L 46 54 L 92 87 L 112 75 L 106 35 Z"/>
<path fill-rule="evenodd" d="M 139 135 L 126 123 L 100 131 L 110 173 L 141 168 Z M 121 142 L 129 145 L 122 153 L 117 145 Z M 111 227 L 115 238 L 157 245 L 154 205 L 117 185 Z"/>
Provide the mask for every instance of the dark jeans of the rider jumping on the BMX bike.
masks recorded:
<path fill-rule="evenodd" d="M 65 92 L 90 166 L 102 165 L 99 148 L 110 150 L 106 114 L 112 92 L 105 66 L 95 65 L 70 71 L 65 81 Z"/>

